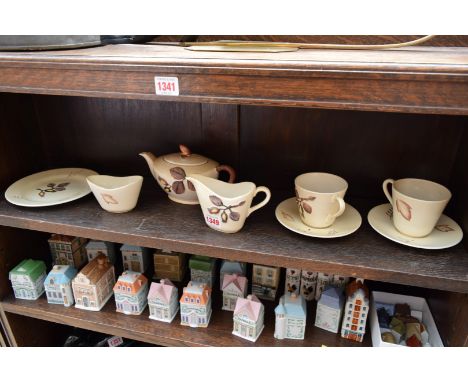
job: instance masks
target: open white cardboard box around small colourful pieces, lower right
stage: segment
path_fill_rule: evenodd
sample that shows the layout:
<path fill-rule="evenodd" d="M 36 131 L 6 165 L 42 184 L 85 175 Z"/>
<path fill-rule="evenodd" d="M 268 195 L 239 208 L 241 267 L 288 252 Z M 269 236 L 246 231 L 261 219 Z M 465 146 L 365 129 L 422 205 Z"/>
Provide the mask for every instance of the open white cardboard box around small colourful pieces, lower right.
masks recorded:
<path fill-rule="evenodd" d="M 372 346 L 398 346 L 402 345 L 391 344 L 389 342 L 382 341 L 381 333 L 389 331 L 388 329 L 381 329 L 379 327 L 379 320 L 377 318 L 377 310 L 375 308 L 375 303 L 387 303 L 387 304 L 397 304 L 397 303 L 407 303 L 411 308 L 411 315 L 418 317 L 419 312 L 422 313 L 422 323 L 427 329 L 429 334 L 429 343 L 431 346 L 443 347 L 442 339 L 440 338 L 439 331 L 432 317 L 431 311 L 429 310 L 429 305 L 424 298 L 405 296 L 401 294 L 385 293 L 385 292 L 372 292 L 371 308 L 370 308 L 370 326 L 372 334 Z M 413 313 L 414 311 L 414 313 Z"/>

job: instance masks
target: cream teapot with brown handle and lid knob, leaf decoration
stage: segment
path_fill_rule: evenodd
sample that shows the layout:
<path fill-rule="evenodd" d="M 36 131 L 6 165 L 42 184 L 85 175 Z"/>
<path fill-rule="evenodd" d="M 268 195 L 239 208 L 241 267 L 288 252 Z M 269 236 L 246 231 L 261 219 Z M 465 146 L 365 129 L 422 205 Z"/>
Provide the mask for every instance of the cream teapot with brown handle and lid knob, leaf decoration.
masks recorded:
<path fill-rule="evenodd" d="M 156 157 L 150 152 L 140 153 L 146 159 L 154 178 L 166 191 L 169 199 L 177 203 L 198 204 L 197 193 L 192 182 L 186 179 L 189 175 L 200 174 L 218 178 L 221 171 L 229 174 L 229 183 L 236 179 L 236 172 L 227 165 L 202 155 L 192 154 L 187 146 L 179 145 L 180 152 Z"/>

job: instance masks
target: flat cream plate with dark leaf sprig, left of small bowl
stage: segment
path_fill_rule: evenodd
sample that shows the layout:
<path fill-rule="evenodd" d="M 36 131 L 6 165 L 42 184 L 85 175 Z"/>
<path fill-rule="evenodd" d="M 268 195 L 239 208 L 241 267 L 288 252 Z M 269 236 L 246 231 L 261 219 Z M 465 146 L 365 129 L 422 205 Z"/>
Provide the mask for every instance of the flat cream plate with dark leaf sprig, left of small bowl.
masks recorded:
<path fill-rule="evenodd" d="M 29 175 L 5 191 L 5 199 L 22 207 L 46 207 L 71 202 L 91 192 L 86 177 L 97 172 L 85 168 L 58 168 Z"/>

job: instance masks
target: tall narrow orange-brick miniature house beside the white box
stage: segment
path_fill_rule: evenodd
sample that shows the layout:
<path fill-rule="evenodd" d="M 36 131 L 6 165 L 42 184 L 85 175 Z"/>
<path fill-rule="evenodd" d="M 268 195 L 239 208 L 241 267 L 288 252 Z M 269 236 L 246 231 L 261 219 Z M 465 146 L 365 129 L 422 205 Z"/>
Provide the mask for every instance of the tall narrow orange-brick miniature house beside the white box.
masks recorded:
<path fill-rule="evenodd" d="M 341 337 L 362 342 L 369 313 L 369 289 L 363 279 L 356 279 L 346 287 Z"/>

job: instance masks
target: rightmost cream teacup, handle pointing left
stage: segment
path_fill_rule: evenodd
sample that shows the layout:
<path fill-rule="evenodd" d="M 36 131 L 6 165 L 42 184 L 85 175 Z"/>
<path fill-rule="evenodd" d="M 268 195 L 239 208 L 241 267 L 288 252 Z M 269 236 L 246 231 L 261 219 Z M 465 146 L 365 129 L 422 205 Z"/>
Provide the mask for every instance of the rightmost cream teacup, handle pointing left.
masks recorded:
<path fill-rule="evenodd" d="M 452 197 L 446 187 L 424 179 L 386 179 L 382 186 L 393 207 L 393 225 L 412 237 L 429 235 Z"/>

